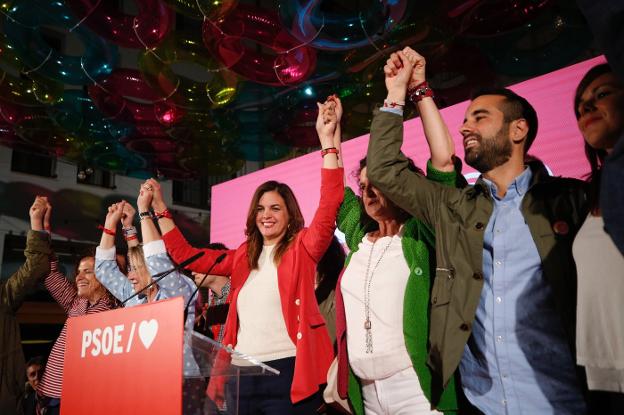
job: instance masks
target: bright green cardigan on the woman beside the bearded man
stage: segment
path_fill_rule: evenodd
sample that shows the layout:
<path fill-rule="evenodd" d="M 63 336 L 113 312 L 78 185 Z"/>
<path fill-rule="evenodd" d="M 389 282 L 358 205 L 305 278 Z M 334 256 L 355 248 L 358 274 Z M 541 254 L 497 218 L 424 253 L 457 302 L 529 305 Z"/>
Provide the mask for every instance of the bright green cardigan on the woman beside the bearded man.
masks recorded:
<path fill-rule="evenodd" d="M 427 177 L 430 180 L 448 186 L 455 186 L 456 172 L 440 172 L 427 164 Z M 338 229 L 344 232 L 349 255 L 358 249 L 367 232 L 376 228 L 376 222 L 368 218 L 364 212 L 361 200 L 349 187 L 345 189 L 345 196 L 338 212 Z M 429 337 L 429 294 L 432 278 L 435 272 L 435 236 L 431 229 L 423 222 L 410 218 L 403 227 L 402 238 L 403 254 L 410 270 L 409 279 L 405 288 L 403 302 L 403 335 L 405 346 L 412 360 L 414 370 L 420 381 L 420 386 L 427 399 L 437 400 L 435 408 L 444 413 L 457 411 L 457 397 L 455 384 L 451 382 L 441 391 L 441 386 L 432 385 L 431 371 L 427 366 L 428 337 Z M 339 287 L 338 287 L 339 288 Z M 355 414 L 364 414 L 364 402 L 359 379 L 349 369 L 349 401 Z"/>

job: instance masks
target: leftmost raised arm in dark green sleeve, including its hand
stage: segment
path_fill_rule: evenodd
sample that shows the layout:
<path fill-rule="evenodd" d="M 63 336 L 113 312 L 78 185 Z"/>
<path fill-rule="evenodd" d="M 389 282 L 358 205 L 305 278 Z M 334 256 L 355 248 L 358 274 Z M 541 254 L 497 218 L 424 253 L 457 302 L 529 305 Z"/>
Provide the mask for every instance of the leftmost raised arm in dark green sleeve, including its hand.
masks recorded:
<path fill-rule="evenodd" d="M 50 270 L 50 238 L 43 232 L 46 205 L 47 199 L 37 196 L 29 211 L 31 230 L 26 237 L 26 261 L 5 284 L 0 284 L 0 301 L 13 312 L 20 308 L 24 297 Z"/>

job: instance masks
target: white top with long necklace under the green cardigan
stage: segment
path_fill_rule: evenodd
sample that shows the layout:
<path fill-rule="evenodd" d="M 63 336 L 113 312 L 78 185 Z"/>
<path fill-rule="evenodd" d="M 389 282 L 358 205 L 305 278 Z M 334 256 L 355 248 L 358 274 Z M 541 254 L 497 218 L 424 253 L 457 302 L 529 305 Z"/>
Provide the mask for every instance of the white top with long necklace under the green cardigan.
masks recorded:
<path fill-rule="evenodd" d="M 366 353 L 366 268 L 371 248 L 369 274 L 386 246 L 388 249 L 373 272 L 370 285 L 373 352 Z M 384 379 L 412 367 L 403 336 L 403 301 L 408 279 L 409 267 L 403 256 L 401 236 L 385 236 L 374 244 L 364 236 L 358 250 L 351 256 L 340 286 L 347 319 L 349 364 L 360 379 Z"/>

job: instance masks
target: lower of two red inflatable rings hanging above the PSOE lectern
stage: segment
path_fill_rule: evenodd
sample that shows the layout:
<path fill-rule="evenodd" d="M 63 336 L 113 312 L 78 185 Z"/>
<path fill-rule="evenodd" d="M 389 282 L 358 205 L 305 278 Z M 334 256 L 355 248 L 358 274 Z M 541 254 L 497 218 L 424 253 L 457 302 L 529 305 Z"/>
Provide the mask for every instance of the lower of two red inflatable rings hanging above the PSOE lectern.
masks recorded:
<path fill-rule="evenodd" d="M 95 105 L 112 120 L 170 126 L 184 117 L 182 109 L 152 88 L 135 69 L 117 68 L 88 90 Z"/>

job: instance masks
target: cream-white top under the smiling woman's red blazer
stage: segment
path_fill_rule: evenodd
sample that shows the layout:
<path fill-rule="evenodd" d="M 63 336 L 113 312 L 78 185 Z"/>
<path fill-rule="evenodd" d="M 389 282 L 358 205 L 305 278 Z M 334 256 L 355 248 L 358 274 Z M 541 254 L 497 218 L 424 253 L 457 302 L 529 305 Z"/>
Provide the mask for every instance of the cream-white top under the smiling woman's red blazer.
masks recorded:
<path fill-rule="evenodd" d="M 282 313 L 273 248 L 274 245 L 262 248 L 258 269 L 249 273 L 236 302 L 238 335 L 235 350 L 261 362 L 296 354 Z"/>

